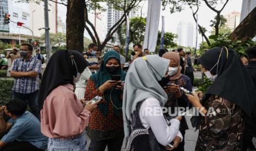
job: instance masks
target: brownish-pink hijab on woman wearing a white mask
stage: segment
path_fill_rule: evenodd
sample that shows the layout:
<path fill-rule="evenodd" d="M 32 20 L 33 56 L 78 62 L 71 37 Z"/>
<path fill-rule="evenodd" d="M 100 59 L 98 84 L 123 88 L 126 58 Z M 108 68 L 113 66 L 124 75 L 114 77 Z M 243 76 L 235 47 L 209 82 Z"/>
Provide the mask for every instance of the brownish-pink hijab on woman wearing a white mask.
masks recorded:
<path fill-rule="evenodd" d="M 179 57 L 179 55 L 173 51 L 165 53 L 164 55 L 162 55 L 162 57 L 165 59 L 173 60 L 178 65 L 178 71 L 170 77 L 170 80 L 177 80 L 181 78 L 181 66 L 179 66 L 179 64 L 181 63 L 181 57 Z"/>

